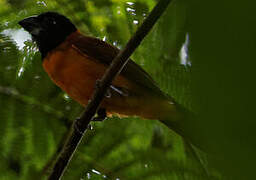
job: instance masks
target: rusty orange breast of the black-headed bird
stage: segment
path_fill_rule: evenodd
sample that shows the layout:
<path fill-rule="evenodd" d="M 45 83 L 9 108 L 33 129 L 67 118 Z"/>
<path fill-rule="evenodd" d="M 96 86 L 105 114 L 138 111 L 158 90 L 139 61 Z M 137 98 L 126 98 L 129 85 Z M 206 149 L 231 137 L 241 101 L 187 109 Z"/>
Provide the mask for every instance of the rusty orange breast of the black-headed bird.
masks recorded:
<path fill-rule="evenodd" d="M 96 80 L 100 79 L 106 66 L 93 57 L 79 52 L 68 41 L 50 52 L 43 61 L 43 67 L 52 81 L 81 105 L 87 105 Z M 114 84 L 129 86 L 129 82 L 118 76 Z"/>

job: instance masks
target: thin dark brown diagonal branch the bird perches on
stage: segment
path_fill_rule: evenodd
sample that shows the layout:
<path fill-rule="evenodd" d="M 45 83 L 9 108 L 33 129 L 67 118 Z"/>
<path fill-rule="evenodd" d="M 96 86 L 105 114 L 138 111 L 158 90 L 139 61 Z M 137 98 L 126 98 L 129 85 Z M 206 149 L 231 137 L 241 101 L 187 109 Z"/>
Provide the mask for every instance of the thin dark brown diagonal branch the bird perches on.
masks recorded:
<path fill-rule="evenodd" d="M 91 119 L 96 113 L 111 82 L 128 62 L 131 54 L 139 46 L 144 37 L 149 33 L 170 2 L 171 0 L 160 0 L 149 16 L 145 19 L 143 24 L 135 32 L 135 35 L 129 40 L 126 47 L 114 58 L 110 67 L 99 81 L 97 89 L 89 101 L 83 115 L 74 122 L 73 130 L 64 148 L 62 149 L 62 152 L 60 153 L 50 176 L 48 177 L 49 180 L 57 180 L 62 177 L 69 161 L 72 158 L 72 155 L 81 141 Z"/>

